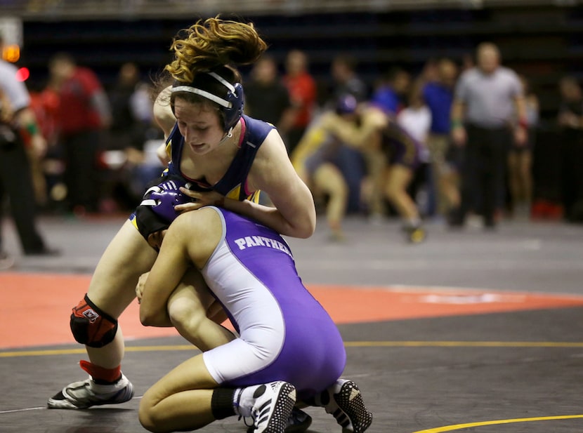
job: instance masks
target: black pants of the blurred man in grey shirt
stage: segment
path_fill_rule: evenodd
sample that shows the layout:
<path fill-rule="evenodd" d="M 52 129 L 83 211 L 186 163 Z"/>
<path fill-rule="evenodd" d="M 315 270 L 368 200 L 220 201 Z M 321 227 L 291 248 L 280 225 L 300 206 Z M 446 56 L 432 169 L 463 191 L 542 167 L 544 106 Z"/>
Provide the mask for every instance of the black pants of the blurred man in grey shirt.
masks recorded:
<path fill-rule="evenodd" d="M 461 165 L 461 206 L 454 222 L 463 224 L 467 213 L 483 215 L 494 225 L 494 213 L 504 194 L 506 159 L 513 140 L 509 128 L 466 127 L 468 140 Z"/>

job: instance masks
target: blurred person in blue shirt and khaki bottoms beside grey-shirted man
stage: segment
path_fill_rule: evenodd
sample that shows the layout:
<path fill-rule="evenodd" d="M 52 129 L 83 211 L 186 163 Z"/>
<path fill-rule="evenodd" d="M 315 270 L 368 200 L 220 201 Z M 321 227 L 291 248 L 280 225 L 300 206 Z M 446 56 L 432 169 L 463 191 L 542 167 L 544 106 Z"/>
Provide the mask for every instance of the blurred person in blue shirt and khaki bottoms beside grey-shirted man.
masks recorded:
<path fill-rule="evenodd" d="M 422 88 L 423 98 L 431 111 L 431 129 L 427 138 L 431 176 L 435 185 L 431 194 L 431 213 L 442 216 L 459 206 L 457 173 L 447 162 L 451 140 L 450 112 L 457 72 L 457 65 L 452 60 L 442 58 L 435 65 L 435 81 L 426 81 Z"/>

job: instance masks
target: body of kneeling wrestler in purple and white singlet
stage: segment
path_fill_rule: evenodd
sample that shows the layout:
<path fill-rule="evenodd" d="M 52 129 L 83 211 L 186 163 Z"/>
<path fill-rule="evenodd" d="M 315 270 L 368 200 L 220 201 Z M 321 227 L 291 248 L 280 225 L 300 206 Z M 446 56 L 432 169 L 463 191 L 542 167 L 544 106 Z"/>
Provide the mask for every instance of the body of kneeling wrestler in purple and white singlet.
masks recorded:
<path fill-rule="evenodd" d="M 188 359 L 148 389 L 140 401 L 143 427 L 190 431 L 242 415 L 254 419 L 255 433 L 283 433 L 297 398 L 324 407 L 343 432 L 365 432 L 372 413 L 355 382 L 340 379 L 341 335 L 303 286 L 279 234 L 214 206 L 178 216 L 136 286 L 144 325 L 172 325 L 173 298 L 195 296 L 181 284 L 193 264 L 239 337 Z"/>

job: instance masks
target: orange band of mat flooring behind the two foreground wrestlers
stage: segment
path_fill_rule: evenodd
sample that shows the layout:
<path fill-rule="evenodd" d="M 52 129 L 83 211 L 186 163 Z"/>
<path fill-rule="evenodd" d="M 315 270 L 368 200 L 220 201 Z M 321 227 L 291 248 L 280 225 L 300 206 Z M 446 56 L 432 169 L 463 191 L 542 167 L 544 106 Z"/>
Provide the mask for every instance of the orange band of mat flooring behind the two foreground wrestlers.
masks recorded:
<path fill-rule="evenodd" d="M 89 275 L 0 273 L 0 348 L 74 342 L 71 308 L 89 286 Z M 583 297 L 457 288 L 308 285 L 338 324 L 485 314 L 583 305 Z M 178 335 L 140 324 L 138 302 L 119 319 L 126 339 Z"/>

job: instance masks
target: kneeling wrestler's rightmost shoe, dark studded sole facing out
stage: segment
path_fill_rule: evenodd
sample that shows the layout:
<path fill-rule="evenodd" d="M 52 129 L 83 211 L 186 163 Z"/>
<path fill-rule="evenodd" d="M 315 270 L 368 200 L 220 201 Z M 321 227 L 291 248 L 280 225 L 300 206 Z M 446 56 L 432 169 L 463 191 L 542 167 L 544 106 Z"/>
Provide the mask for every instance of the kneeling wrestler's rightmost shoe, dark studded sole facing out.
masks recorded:
<path fill-rule="evenodd" d="M 362 433 L 372 424 L 372 413 L 352 380 L 336 380 L 334 385 L 322 392 L 320 399 L 325 411 L 332 414 L 342 427 L 342 433 Z"/>

